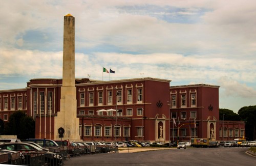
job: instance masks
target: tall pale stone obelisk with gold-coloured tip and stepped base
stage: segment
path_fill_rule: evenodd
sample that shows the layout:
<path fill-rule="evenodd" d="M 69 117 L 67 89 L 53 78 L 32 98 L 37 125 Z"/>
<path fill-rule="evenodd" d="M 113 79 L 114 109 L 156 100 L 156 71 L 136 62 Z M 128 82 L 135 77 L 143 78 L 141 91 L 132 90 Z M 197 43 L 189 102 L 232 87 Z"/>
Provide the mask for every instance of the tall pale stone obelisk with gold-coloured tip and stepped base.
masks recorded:
<path fill-rule="evenodd" d="M 54 140 L 60 140 L 59 129 L 63 128 L 62 140 L 80 141 L 79 118 L 76 117 L 75 87 L 75 17 L 64 17 L 63 71 L 60 111 L 54 118 Z"/>

